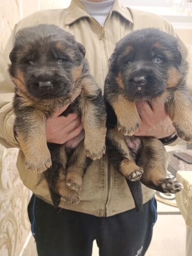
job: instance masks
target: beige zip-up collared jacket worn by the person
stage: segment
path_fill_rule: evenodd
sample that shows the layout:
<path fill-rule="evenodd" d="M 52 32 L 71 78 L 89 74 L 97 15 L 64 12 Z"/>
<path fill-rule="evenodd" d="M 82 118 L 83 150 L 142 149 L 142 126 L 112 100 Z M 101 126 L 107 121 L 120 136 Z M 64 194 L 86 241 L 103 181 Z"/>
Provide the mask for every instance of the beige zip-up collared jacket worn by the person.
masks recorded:
<path fill-rule="evenodd" d="M 163 18 L 122 7 L 119 0 L 115 1 L 105 25 L 101 26 L 90 17 L 79 0 L 72 0 L 67 9 L 38 11 L 16 24 L 5 49 L 2 69 L 7 70 L 15 33 L 21 28 L 40 23 L 59 25 L 62 29 L 71 32 L 77 41 L 85 46 L 91 73 L 102 89 L 107 74 L 107 61 L 120 38 L 131 31 L 152 26 L 175 35 L 170 23 Z M 0 82 L 0 143 L 6 147 L 18 147 L 18 142 L 13 136 L 15 118 L 11 102 L 14 94 L 13 84 L 7 72 L 4 80 L 0 79 Z M 25 170 L 24 155 L 21 151 L 17 167 L 23 183 L 34 194 L 51 204 L 48 186 L 43 175 Z M 154 191 L 144 185 L 142 189 L 145 203 L 153 197 Z M 94 161 L 88 168 L 83 180 L 83 191 L 80 192 L 80 203 L 72 205 L 62 201 L 60 206 L 96 216 L 111 216 L 134 208 L 134 203 L 125 178 L 109 165 L 107 157 L 104 156 Z"/>

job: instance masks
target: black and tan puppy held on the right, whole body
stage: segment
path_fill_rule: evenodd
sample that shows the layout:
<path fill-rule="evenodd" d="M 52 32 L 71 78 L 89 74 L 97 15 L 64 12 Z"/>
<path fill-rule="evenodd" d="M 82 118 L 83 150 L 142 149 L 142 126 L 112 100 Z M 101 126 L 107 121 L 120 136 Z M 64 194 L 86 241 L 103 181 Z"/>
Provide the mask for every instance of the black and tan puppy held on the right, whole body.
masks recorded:
<path fill-rule="evenodd" d="M 166 178 L 166 151 L 159 140 L 142 137 L 135 163 L 125 136 L 132 136 L 139 127 L 135 102 L 150 104 L 160 99 L 178 136 L 192 141 L 192 103 L 186 72 L 186 56 L 179 41 L 160 30 L 138 30 L 117 43 L 105 80 L 107 111 L 115 112 L 107 116 L 107 143 L 113 165 L 128 181 L 141 179 L 163 193 L 182 189 L 182 184 Z"/>

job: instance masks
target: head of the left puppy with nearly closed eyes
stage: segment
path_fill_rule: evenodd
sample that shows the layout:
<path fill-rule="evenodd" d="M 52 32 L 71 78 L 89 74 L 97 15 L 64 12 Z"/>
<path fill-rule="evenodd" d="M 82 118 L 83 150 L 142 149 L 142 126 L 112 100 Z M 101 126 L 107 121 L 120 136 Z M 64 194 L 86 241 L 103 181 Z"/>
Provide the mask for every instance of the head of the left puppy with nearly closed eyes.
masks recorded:
<path fill-rule="evenodd" d="M 20 30 L 10 53 L 9 73 L 21 90 L 38 99 L 70 97 L 80 77 L 85 48 L 56 25 Z"/>

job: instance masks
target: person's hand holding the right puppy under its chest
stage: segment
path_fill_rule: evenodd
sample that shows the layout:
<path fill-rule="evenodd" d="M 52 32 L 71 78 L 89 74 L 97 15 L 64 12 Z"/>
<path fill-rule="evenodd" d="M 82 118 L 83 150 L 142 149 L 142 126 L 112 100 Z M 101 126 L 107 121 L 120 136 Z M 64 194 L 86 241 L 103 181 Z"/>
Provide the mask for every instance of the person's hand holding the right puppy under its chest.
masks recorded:
<path fill-rule="evenodd" d="M 153 100 L 150 105 L 146 101 L 138 102 L 136 108 L 140 115 L 140 126 L 135 136 L 152 136 L 161 139 L 175 132 L 163 101 Z"/>

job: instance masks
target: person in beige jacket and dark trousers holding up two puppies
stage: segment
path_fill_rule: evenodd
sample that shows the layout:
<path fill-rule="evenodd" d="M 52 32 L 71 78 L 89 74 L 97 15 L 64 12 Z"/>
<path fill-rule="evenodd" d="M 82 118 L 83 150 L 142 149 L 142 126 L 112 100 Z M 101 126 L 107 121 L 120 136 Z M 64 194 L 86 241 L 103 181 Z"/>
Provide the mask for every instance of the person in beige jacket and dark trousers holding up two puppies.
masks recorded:
<path fill-rule="evenodd" d="M 90 73 L 102 90 L 108 59 L 122 37 L 132 31 L 149 28 L 152 24 L 176 36 L 171 24 L 163 18 L 121 6 L 119 0 L 72 0 L 67 9 L 39 11 L 21 20 L 5 49 L 6 66 L 10 63 L 9 53 L 17 31 L 42 23 L 60 26 L 85 47 Z M 183 44 L 182 47 L 186 51 Z M 0 86 L 0 142 L 6 147 L 20 146 L 13 127 L 13 89 L 8 74 L 5 74 Z M 46 138 L 47 142 L 65 143 L 65 146 L 75 148 L 84 140 L 84 131 L 79 116 L 60 115 L 69 104 L 46 120 Z M 166 143 L 176 140 L 174 126 L 163 102 L 154 101 L 150 105 L 147 102 L 138 103 L 137 110 L 140 126 L 136 136 L 163 138 Z M 138 137 L 127 143 L 136 152 L 141 142 Z M 61 209 L 51 205 L 43 175 L 25 169 L 21 151 L 17 166 L 24 184 L 34 193 L 28 210 L 39 256 L 91 256 L 94 239 L 98 242 L 100 256 L 145 254 L 156 221 L 154 191 L 142 186 L 144 205 L 143 211 L 138 214 L 125 178 L 109 165 L 107 155 L 93 161 L 87 169 L 83 189 L 79 193 L 80 203 L 72 205 L 61 200 Z"/>

